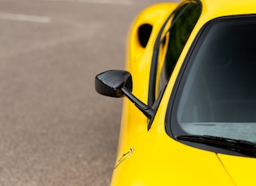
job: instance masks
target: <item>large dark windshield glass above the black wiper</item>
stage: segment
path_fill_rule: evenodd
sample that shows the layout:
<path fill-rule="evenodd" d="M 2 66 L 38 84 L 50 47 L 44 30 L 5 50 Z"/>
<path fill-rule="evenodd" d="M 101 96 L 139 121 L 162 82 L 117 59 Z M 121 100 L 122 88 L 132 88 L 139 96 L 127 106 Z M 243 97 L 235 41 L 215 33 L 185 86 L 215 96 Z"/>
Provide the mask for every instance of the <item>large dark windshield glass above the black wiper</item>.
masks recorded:
<path fill-rule="evenodd" d="M 255 33 L 255 16 L 206 25 L 176 93 L 171 123 L 180 132 L 175 135 L 256 142 Z"/>

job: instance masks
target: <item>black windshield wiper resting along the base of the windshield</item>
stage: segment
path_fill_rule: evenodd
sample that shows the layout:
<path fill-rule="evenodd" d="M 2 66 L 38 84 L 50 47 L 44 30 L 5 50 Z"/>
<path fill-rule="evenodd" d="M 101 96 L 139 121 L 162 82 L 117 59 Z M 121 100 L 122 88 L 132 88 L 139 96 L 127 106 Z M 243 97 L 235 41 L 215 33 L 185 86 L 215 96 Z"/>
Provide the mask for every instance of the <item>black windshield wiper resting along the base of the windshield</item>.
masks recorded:
<path fill-rule="evenodd" d="M 202 143 L 256 157 L 256 143 L 253 142 L 206 135 L 188 135 L 176 138 L 182 141 Z"/>

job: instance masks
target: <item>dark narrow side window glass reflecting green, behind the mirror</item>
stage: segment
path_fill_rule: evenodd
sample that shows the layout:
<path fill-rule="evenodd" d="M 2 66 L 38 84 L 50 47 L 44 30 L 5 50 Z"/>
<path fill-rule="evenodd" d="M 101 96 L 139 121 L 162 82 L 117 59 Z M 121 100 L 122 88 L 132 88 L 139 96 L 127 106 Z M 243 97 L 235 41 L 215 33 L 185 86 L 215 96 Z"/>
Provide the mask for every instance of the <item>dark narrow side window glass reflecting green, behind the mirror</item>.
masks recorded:
<path fill-rule="evenodd" d="M 158 95 L 158 92 L 162 90 L 171 77 L 180 53 L 184 49 L 184 45 L 189 39 L 200 14 L 201 5 L 197 2 L 189 2 L 176 10 L 171 26 L 169 25 L 170 27 L 163 37 L 164 42 L 167 44 L 167 51 L 163 59 L 160 77 L 157 78 L 158 90 L 156 90 L 156 95 Z"/>

